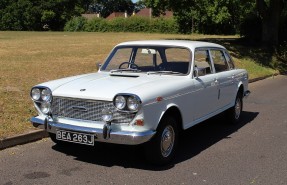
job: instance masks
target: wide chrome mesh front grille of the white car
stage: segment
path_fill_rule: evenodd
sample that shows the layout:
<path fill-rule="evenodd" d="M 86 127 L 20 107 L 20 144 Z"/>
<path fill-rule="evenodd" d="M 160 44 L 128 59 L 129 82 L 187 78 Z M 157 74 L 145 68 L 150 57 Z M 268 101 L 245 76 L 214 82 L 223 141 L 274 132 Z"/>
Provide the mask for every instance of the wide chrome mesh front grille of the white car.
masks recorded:
<path fill-rule="evenodd" d="M 53 116 L 87 121 L 102 121 L 101 112 L 109 108 L 114 112 L 113 123 L 130 123 L 135 114 L 117 112 L 112 102 L 53 97 L 51 111 Z"/>

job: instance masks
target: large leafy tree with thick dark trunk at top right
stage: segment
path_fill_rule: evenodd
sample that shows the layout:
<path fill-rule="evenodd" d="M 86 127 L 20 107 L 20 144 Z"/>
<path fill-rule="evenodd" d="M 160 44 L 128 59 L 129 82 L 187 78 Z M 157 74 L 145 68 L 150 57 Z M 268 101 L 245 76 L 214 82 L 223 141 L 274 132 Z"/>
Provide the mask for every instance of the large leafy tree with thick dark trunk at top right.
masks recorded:
<path fill-rule="evenodd" d="M 278 35 L 282 29 L 280 19 L 286 20 L 286 15 L 283 17 L 286 0 L 145 0 L 145 3 L 153 8 L 154 13 L 172 9 L 184 33 L 235 33 L 248 16 L 259 14 L 262 23 L 261 40 L 271 45 L 279 41 Z"/>

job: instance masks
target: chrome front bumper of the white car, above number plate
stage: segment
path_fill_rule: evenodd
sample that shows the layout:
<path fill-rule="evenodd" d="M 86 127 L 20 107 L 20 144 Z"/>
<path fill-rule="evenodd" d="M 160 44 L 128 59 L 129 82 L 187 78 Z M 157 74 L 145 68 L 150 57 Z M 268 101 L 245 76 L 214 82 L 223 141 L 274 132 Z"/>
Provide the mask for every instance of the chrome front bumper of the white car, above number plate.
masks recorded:
<path fill-rule="evenodd" d="M 93 134 L 95 137 L 95 142 L 106 142 L 106 143 L 116 143 L 116 144 L 125 144 L 125 145 L 138 145 L 149 141 L 155 131 L 143 131 L 143 132 L 132 132 L 132 131 L 113 131 L 110 132 L 110 137 L 104 139 L 103 129 L 90 128 L 69 125 L 64 123 L 56 123 L 48 118 L 42 119 L 42 117 L 32 117 L 31 123 L 34 127 L 47 130 L 50 133 L 56 133 L 57 130 L 67 130 L 80 133 Z"/>

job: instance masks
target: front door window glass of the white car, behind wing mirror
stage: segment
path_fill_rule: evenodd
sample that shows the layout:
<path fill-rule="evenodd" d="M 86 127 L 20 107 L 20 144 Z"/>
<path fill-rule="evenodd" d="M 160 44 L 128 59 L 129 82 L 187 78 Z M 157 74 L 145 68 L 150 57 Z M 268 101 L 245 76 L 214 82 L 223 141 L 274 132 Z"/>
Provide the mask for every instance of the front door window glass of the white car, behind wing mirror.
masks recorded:
<path fill-rule="evenodd" d="M 194 53 L 194 65 L 198 69 L 198 75 L 204 76 L 212 73 L 208 50 L 196 50 Z"/>

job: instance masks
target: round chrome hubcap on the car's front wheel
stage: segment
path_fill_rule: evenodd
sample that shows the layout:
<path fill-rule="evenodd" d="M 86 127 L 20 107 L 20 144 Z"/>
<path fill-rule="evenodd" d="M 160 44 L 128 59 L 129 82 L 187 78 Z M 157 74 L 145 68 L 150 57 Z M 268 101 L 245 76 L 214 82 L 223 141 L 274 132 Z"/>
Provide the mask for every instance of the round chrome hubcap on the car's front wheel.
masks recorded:
<path fill-rule="evenodd" d="M 172 126 L 165 127 L 161 135 L 161 154 L 168 157 L 174 146 L 174 130 Z"/>

